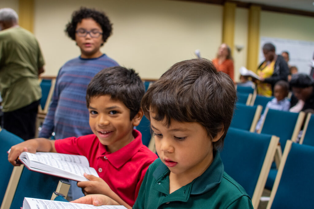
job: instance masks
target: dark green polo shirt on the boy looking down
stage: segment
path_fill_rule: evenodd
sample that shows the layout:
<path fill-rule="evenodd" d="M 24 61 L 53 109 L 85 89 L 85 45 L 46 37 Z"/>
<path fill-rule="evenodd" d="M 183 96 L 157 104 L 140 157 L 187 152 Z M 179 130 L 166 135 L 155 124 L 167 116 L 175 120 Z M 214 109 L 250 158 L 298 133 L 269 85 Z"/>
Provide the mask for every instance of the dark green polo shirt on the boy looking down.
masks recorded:
<path fill-rule="evenodd" d="M 219 151 L 208 169 L 169 194 L 169 173 L 156 159 L 149 166 L 133 208 L 252 208 L 246 191 L 224 171 Z"/>

